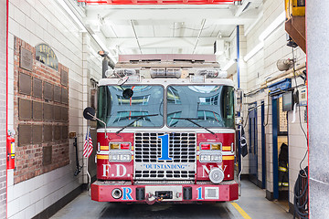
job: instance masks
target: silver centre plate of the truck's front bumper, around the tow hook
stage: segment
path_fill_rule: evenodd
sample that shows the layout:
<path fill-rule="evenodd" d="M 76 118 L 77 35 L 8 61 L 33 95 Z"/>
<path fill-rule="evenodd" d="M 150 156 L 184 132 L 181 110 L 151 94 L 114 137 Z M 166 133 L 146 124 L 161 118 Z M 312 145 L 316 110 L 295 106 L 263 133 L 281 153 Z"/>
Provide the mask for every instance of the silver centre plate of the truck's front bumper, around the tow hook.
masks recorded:
<path fill-rule="evenodd" d="M 150 193 L 158 198 L 163 198 L 167 202 L 183 200 L 182 186 L 145 186 L 145 193 Z"/>

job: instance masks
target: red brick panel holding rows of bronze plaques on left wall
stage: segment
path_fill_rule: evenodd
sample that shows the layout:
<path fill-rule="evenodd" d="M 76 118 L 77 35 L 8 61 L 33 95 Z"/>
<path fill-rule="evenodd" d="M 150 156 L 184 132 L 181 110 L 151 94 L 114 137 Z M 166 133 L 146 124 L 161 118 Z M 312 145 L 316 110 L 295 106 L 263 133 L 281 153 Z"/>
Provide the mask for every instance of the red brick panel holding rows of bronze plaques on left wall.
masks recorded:
<path fill-rule="evenodd" d="M 32 57 L 30 69 L 20 63 L 23 49 Z M 49 68 L 36 60 L 35 50 L 15 38 L 15 183 L 69 164 L 69 68 Z"/>

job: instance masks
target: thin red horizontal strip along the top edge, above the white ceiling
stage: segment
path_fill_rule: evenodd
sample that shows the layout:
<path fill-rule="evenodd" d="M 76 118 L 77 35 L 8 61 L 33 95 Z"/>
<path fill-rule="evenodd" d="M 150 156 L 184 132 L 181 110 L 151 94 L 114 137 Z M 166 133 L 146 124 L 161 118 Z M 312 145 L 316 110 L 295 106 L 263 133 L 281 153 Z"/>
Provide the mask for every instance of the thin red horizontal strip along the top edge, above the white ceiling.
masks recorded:
<path fill-rule="evenodd" d="M 87 5 L 234 5 L 241 0 L 78 0 Z"/>

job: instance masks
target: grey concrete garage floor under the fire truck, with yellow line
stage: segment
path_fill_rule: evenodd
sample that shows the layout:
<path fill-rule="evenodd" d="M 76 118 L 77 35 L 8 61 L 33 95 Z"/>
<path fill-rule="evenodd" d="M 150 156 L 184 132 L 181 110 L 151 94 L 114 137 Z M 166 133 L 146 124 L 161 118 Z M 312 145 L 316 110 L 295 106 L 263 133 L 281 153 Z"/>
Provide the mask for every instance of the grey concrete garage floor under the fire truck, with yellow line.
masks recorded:
<path fill-rule="evenodd" d="M 66 205 L 52 219 L 72 218 L 253 218 L 291 219 L 280 204 L 265 199 L 265 192 L 248 181 L 242 182 L 242 195 L 235 203 L 249 215 L 242 215 L 231 203 L 213 204 L 124 204 L 97 203 L 88 192 Z"/>

